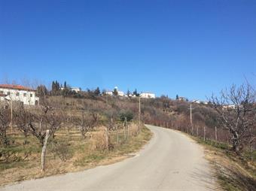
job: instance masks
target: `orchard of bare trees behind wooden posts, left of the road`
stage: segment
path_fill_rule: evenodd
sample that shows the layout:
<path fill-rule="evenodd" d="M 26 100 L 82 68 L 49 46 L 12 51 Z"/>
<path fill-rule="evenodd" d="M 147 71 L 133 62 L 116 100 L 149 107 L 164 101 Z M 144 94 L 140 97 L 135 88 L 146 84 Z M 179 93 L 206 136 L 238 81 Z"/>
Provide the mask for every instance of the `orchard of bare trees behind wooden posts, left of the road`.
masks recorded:
<path fill-rule="evenodd" d="M 129 138 L 138 135 L 139 125 L 133 114 L 133 111 L 138 113 L 136 104 L 132 111 L 111 99 L 106 104 L 105 99 L 50 96 L 44 94 L 42 86 L 38 89 L 42 92 L 39 106 L 17 105 L 12 111 L 10 107 L 0 107 L 0 168 L 29 157 L 33 159 L 32 150 L 36 149 L 40 150 L 40 168 L 44 171 L 49 149 L 54 158 L 66 161 L 69 153 L 76 152 L 69 151 L 73 147 L 70 141 L 84 144 L 91 140 L 90 147 L 95 150 L 111 150 L 123 147 Z"/>

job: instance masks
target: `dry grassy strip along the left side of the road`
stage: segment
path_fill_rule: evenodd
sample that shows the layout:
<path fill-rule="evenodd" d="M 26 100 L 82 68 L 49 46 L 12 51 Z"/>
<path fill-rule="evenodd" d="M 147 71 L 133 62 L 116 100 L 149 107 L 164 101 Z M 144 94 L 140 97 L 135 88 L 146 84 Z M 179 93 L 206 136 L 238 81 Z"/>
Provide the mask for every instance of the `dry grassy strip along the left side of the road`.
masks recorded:
<path fill-rule="evenodd" d="M 99 132 L 88 132 L 85 139 L 78 130 L 60 130 L 56 137 L 50 138 L 47 145 L 46 170 L 40 170 L 41 146 L 31 135 L 24 144 L 24 136 L 20 133 L 11 135 L 11 146 L 0 148 L 0 185 L 14 183 L 32 178 L 47 177 L 71 171 L 81 171 L 97 165 L 107 165 L 130 157 L 151 139 L 147 128 L 141 129 L 138 135 L 126 135 L 123 130 L 109 132 L 111 147 L 96 147 L 94 135 Z M 118 140 L 118 143 L 117 143 Z M 5 156 L 5 157 L 4 157 Z"/>

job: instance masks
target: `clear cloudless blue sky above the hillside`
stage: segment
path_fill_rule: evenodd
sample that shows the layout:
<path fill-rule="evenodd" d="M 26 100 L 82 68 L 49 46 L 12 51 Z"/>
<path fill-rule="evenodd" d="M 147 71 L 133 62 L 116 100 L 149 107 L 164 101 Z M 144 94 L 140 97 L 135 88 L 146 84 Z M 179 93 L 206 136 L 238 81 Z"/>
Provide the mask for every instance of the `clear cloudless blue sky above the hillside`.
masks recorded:
<path fill-rule="evenodd" d="M 205 99 L 255 75 L 254 0 L 0 0 L 0 79 Z"/>

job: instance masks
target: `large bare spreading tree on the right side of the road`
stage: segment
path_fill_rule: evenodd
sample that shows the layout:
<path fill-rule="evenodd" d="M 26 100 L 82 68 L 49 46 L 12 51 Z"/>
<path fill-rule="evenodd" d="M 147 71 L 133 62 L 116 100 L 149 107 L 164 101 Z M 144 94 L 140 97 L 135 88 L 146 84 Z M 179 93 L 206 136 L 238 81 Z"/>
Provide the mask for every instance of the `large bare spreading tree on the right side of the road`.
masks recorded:
<path fill-rule="evenodd" d="M 221 91 L 219 98 L 212 95 L 209 99 L 218 112 L 221 126 L 230 132 L 233 151 L 236 153 L 242 150 L 244 142 L 250 140 L 249 130 L 255 128 L 255 101 L 256 92 L 248 83 L 233 85 Z"/>

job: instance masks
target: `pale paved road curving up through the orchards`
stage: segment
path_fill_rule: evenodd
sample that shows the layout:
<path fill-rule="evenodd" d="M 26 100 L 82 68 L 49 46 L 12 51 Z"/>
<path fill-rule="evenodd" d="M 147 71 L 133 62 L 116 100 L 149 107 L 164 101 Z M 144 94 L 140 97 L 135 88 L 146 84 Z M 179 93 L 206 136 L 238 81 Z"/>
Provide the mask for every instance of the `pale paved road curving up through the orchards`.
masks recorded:
<path fill-rule="evenodd" d="M 186 135 L 148 126 L 154 137 L 136 156 L 87 171 L 28 180 L 0 190 L 215 190 L 203 148 Z"/>

